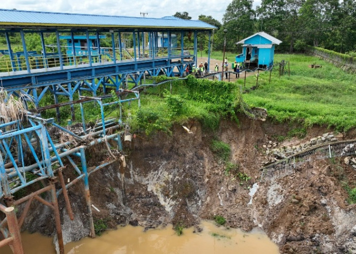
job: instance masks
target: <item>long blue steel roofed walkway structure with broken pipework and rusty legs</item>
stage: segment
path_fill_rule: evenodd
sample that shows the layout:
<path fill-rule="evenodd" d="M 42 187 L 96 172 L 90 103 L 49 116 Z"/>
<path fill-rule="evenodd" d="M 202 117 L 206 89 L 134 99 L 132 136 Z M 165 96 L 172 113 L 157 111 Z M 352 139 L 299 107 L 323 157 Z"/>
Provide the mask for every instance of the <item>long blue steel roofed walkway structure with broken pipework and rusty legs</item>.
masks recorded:
<path fill-rule="evenodd" d="M 122 103 L 132 101 L 137 101 L 139 106 L 139 88 L 147 85 L 140 83 L 146 76 L 182 77 L 187 66 L 197 63 L 197 33 L 203 31 L 209 35 L 210 56 L 210 37 L 215 28 L 202 21 L 173 17 L 131 18 L 0 9 L 0 38 L 5 38 L 7 45 L 0 50 L 0 86 L 6 90 L 6 99 L 0 103 L 6 105 L 17 97 L 25 107 L 22 118 L 9 120 L 0 115 L 0 240 L 1 236 L 4 238 L 0 247 L 9 244 L 15 253 L 23 253 L 20 228 L 31 203 L 38 201 L 53 210 L 60 252 L 64 253 L 57 197 L 64 195 L 67 213 L 73 219 L 67 189 L 81 180 L 91 236 L 95 237 L 88 177 L 116 158 L 89 167 L 86 148 L 99 143 L 109 148 L 115 143 L 120 151 L 122 135 L 128 134 L 121 115 L 118 119 L 107 117 L 105 108 L 116 104 L 121 112 Z M 184 45 L 187 35 L 193 37 L 192 48 Z M 33 37 L 40 41 L 40 50 L 30 48 L 28 41 Z M 53 96 L 54 104 L 40 107 L 47 94 Z M 67 99 L 60 103 L 60 97 Z M 90 128 L 83 107 L 88 102 L 96 103 L 101 112 L 100 120 Z M 79 132 L 71 128 L 76 120 L 74 105 L 77 104 L 81 112 Z M 60 107 L 66 105 L 71 108 L 66 128 L 53 118 L 45 119 L 39 114 L 55 108 L 60 120 Z M 71 165 L 77 174 L 67 184 L 63 176 L 65 164 Z M 34 187 L 35 183 L 40 186 L 37 190 L 15 200 L 19 190 Z M 50 201 L 43 198 L 43 193 L 50 193 Z M 23 209 L 16 212 L 14 207 L 20 204 Z"/>

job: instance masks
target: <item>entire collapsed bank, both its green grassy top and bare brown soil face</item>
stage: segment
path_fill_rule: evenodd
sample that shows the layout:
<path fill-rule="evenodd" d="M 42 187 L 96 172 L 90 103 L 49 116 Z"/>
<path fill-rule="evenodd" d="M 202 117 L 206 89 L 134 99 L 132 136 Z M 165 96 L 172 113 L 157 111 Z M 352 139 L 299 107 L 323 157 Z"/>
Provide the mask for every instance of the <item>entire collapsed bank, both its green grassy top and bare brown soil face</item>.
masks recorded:
<path fill-rule="evenodd" d="M 168 223 L 188 227 L 219 215 L 229 227 L 246 231 L 261 227 L 282 253 L 356 253 L 356 211 L 350 204 L 356 174 L 343 158 L 315 160 L 289 176 L 259 183 L 248 205 L 249 188 L 259 181 L 260 168 L 270 160 L 268 145 L 282 150 L 325 133 L 339 140 L 356 138 L 352 129 L 355 101 L 350 97 L 354 77 L 326 63 L 322 70 L 327 69 L 327 74 L 306 69 L 314 58 L 291 58 L 295 61 L 291 77 L 277 79 L 275 70 L 275 81 L 269 84 L 268 74 L 261 74 L 256 90 L 249 89 L 256 82 L 249 77 L 242 96 L 242 80 L 232 84 L 190 78 L 191 83 L 173 86 L 172 94 L 169 85 L 167 90 L 147 89 L 141 109 L 133 104 L 123 113 L 136 133 L 124 148 L 126 197 L 119 165 L 90 178 L 92 202 L 100 210 L 93 209 L 98 232 L 128 223 L 145 228 Z M 249 119 L 242 98 L 249 105 L 266 108 L 267 120 Z M 227 156 L 220 152 L 226 148 Z M 106 149 L 93 149 L 88 163 L 95 166 L 98 160 L 109 160 Z M 65 178 L 72 179 L 73 174 L 67 171 Z M 65 209 L 61 211 L 65 242 L 89 232 L 82 190 L 81 183 L 69 189 L 75 220 L 69 220 Z M 27 229 L 51 234 L 50 213 L 42 206 L 36 209 L 26 221 Z"/>

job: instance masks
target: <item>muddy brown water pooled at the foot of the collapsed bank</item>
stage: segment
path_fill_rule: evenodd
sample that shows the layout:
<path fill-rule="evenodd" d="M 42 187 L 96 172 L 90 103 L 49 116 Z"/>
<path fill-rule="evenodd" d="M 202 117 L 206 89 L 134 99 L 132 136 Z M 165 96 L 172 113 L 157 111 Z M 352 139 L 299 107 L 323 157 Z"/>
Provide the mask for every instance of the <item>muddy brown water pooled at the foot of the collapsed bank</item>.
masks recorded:
<path fill-rule="evenodd" d="M 203 221 L 202 232 L 184 229 L 177 236 L 171 226 L 146 232 L 141 227 L 126 226 L 115 231 L 106 231 L 95 239 L 85 238 L 68 243 L 65 252 L 86 253 L 279 253 L 278 246 L 260 231 L 244 233 L 236 229 L 217 227 L 210 221 Z M 38 234 L 23 234 L 25 253 L 55 253 L 52 238 Z M 33 249 L 31 249 L 33 248 Z M 3 250 L 3 249 L 2 249 Z M 3 253 L 3 252 L 1 252 Z M 10 254 L 6 252 L 4 254 Z"/>

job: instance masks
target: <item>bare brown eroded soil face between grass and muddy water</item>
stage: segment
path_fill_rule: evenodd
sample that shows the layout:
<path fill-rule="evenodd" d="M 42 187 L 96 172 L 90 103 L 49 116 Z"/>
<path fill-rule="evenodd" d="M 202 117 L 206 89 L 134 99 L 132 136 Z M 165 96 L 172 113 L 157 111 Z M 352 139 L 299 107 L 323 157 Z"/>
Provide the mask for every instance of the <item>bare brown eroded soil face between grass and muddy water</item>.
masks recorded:
<path fill-rule="evenodd" d="M 147 138 L 137 134 L 125 146 L 125 205 L 118 164 L 91 175 L 92 203 L 100 210 L 93 209 L 95 218 L 105 220 L 109 228 L 129 223 L 154 228 L 168 223 L 188 227 L 198 225 L 201 218 L 221 215 L 228 227 L 262 228 L 283 253 L 356 253 L 356 233 L 352 233 L 356 208 L 345 202 L 347 193 L 341 184 L 346 178 L 350 186 L 356 184 L 356 171 L 343 164 L 342 158 L 315 160 L 291 175 L 259 183 L 266 156 L 262 146 L 286 136 L 295 126 L 240 118 L 239 124 L 222 121 L 217 133 L 202 130 L 199 122 L 192 120 L 184 124 L 190 133 L 176 125 L 172 135 L 158 133 Z M 304 140 L 284 142 L 298 145 L 330 131 L 311 128 Z M 356 133 L 339 135 L 339 140 L 346 138 L 356 138 Z M 238 171 L 226 172 L 225 164 L 211 151 L 213 139 L 230 145 L 230 162 L 239 165 Z M 102 149 L 105 147 L 92 152 L 91 163 L 95 164 L 95 154 Z M 251 179 L 241 180 L 237 172 Z M 254 183 L 258 184 L 252 195 Z M 81 183 L 69 189 L 74 223 L 65 209 L 61 210 L 65 241 L 88 233 L 82 191 Z M 33 225 L 27 223 L 27 227 Z M 44 223 L 33 228 L 44 231 Z"/>

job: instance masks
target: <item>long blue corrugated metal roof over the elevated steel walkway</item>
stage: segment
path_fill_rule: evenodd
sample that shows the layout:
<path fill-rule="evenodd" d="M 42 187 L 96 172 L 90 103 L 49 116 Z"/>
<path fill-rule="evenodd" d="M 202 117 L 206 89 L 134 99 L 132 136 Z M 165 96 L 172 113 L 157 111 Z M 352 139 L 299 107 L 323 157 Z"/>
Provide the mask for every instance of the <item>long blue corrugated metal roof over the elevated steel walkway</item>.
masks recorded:
<path fill-rule="evenodd" d="M 216 29 L 200 20 L 176 18 L 143 18 L 0 9 L 0 26 L 80 26 L 80 27 L 140 27 Z"/>

